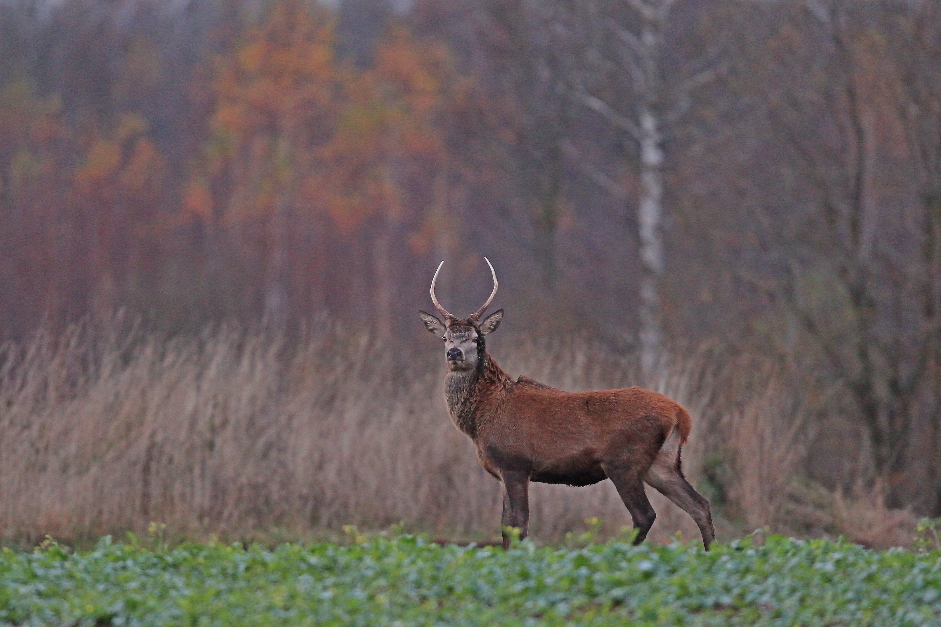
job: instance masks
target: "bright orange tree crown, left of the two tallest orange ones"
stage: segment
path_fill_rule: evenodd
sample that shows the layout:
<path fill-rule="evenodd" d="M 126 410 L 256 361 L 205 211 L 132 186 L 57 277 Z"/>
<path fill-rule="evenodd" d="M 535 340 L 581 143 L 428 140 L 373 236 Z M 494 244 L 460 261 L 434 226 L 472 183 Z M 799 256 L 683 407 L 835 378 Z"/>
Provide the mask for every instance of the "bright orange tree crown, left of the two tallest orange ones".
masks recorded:
<path fill-rule="evenodd" d="M 326 13 L 284 0 L 217 59 L 206 169 L 225 181 L 213 201 L 223 220 L 264 220 L 295 203 L 336 108 L 332 47 Z"/>

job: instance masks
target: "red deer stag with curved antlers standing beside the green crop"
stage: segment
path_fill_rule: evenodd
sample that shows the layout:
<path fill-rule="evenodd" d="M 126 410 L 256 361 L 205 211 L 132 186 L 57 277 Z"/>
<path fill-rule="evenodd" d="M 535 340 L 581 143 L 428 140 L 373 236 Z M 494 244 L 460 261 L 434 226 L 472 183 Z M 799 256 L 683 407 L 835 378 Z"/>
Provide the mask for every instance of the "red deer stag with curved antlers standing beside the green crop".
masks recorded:
<path fill-rule="evenodd" d="M 523 376 L 513 381 L 486 352 L 484 338 L 500 326 L 503 310 L 481 320 L 499 285 L 484 259 L 493 275 L 484 306 L 464 320 L 440 306 L 435 282 L 441 261 L 431 279 L 431 302 L 444 320 L 419 314 L 428 331 L 444 340 L 450 369 L 444 397 L 455 426 L 473 441 L 486 472 L 503 484 L 503 548 L 510 544 L 507 527 L 526 537 L 530 481 L 583 486 L 610 478 L 630 510 L 635 544 L 657 516 L 646 481 L 693 517 L 709 550 L 715 538 L 709 501 L 683 477 L 679 463 L 690 415 L 678 402 L 640 387 L 565 392 Z"/>

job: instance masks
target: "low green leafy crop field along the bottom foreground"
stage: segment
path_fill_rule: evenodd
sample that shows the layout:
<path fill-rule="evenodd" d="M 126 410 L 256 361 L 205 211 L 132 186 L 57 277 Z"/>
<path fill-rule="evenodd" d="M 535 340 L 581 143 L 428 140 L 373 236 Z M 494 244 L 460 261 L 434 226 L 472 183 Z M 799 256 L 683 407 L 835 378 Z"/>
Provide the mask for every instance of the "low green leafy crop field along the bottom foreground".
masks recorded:
<path fill-rule="evenodd" d="M 941 625 L 941 552 L 770 536 L 509 552 L 46 542 L 0 553 L 4 625 Z M 757 542 L 756 542 L 757 543 Z"/>

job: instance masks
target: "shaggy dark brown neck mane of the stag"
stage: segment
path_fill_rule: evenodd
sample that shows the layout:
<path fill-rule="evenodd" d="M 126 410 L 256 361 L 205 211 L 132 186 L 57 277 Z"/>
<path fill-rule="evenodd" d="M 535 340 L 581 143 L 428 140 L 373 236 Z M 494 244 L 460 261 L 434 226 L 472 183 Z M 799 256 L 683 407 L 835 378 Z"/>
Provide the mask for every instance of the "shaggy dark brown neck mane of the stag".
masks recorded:
<path fill-rule="evenodd" d="M 486 352 L 483 359 L 478 360 L 477 368 L 466 372 L 449 372 L 444 378 L 444 397 L 457 429 L 471 439 L 476 437 L 488 417 L 480 411 L 481 401 L 505 393 L 512 385 L 513 380 Z"/>

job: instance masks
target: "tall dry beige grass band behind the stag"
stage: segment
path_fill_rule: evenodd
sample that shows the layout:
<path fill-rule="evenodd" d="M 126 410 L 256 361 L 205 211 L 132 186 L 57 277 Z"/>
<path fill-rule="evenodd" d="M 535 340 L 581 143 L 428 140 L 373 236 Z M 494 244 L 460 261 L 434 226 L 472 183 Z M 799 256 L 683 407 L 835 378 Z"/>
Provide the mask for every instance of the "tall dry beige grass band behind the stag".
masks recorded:
<path fill-rule="evenodd" d="M 314 328 L 297 337 L 221 324 L 165 338 L 119 317 L 2 347 L 0 538 L 81 539 L 150 521 L 240 538 L 400 522 L 450 538 L 498 534 L 500 487 L 445 411 L 438 347 L 410 353 L 326 321 Z M 833 531 L 861 502 L 794 496 L 815 409 L 773 364 L 707 348 L 664 359 L 645 380 L 630 355 L 586 337 L 501 341 L 495 353 L 514 375 L 572 390 L 644 384 L 685 404 L 695 422 L 684 469 L 733 521 L 726 536 L 818 519 Z M 651 498 L 654 539 L 698 538 L 685 513 Z M 593 516 L 609 533 L 630 525 L 607 481 L 534 484 L 531 501 L 541 541 Z"/>

